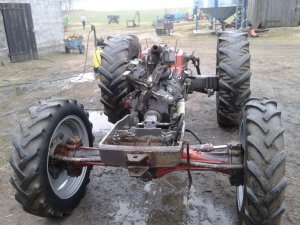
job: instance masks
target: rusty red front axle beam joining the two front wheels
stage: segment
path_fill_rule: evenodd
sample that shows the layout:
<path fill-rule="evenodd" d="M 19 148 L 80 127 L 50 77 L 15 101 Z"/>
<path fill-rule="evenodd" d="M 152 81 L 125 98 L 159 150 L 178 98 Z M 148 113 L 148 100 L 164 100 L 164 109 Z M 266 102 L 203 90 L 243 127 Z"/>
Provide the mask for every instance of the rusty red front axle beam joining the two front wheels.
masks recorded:
<path fill-rule="evenodd" d="M 178 154 L 165 152 L 165 147 L 160 147 L 160 151 L 156 149 L 155 152 L 130 152 L 126 149 L 127 146 L 117 146 L 122 147 L 122 150 L 116 150 L 116 146 L 110 150 L 88 148 L 84 146 L 77 146 L 77 148 L 70 149 L 67 147 L 70 146 L 70 143 L 74 144 L 71 145 L 72 147 L 77 143 L 80 143 L 80 139 L 78 138 L 72 138 L 72 141 L 68 142 L 66 145 L 58 146 L 59 151 L 55 151 L 56 159 L 73 163 L 74 168 L 91 165 L 123 167 L 128 169 L 130 176 L 144 177 L 145 180 L 159 178 L 174 171 L 205 170 L 232 174 L 232 171 L 242 170 L 244 168 L 243 153 L 239 142 L 229 143 L 226 145 L 227 148 L 225 151 L 225 145 L 213 146 L 212 144 L 197 145 L 195 149 L 190 148 L 189 150 L 187 150 L 187 148 L 182 148 L 182 151 L 179 152 L 180 160 L 177 160 Z M 100 157 L 103 150 L 106 154 L 111 154 L 111 156 L 117 158 L 117 160 L 114 160 L 113 163 L 103 161 Z M 66 154 L 64 151 L 67 151 L 68 153 Z M 70 153 L 70 151 L 73 151 L 73 153 Z M 91 157 L 90 153 L 94 155 Z M 79 155 L 82 158 L 79 158 Z M 153 159 L 156 159 L 156 161 L 153 161 Z M 159 159 L 162 164 L 156 164 L 155 162 L 157 162 L 157 159 Z M 108 161 L 111 162 L 111 160 Z M 172 166 L 166 166 L 169 164 L 164 164 L 164 161 L 176 161 L 176 163 L 172 164 Z M 152 169 L 151 173 L 148 172 L 149 169 Z"/>

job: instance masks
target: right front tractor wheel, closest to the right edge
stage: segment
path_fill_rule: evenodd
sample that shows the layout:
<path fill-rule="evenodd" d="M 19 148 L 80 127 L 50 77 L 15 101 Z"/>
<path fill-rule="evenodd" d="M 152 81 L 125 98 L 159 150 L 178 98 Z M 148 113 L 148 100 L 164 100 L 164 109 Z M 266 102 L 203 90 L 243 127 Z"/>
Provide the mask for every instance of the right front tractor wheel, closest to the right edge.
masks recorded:
<path fill-rule="evenodd" d="M 245 159 L 244 184 L 237 187 L 240 225 L 280 225 L 287 186 L 283 132 L 275 102 L 246 101 L 239 132 Z"/>

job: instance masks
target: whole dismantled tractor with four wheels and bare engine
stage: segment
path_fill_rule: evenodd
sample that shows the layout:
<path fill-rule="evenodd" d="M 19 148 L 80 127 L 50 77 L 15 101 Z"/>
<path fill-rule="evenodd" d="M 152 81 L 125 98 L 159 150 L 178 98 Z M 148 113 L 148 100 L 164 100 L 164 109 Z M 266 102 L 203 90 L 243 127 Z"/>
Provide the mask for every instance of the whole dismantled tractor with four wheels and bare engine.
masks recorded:
<path fill-rule="evenodd" d="M 126 168 L 143 181 L 207 170 L 228 174 L 236 186 L 240 224 L 280 224 L 287 185 L 284 129 L 275 102 L 249 98 L 247 34 L 219 34 L 216 75 L 201 75 L 199 58 L 167 45 L 141 52 L 132 35 L 111 37 L 103 45 L 95 71 L 104 112 L 115 125 L 93 147 L 92 124 L 76 100 L 30 107 L 10 160 L 11 183 L 24 210 L 44 217 L 70 214 L 85 194 L 92 166 Z M 218 123 L 240 125 L 239 141 L 185 140 L 185 103 L 193 92 L 216 92 Z"/>

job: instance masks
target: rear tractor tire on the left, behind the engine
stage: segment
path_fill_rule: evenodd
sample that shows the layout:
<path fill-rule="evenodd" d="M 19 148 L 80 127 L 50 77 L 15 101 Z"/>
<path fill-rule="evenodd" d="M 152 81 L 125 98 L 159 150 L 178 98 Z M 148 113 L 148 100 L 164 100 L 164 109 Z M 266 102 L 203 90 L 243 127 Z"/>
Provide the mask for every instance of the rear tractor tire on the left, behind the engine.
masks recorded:
<path fill-rule="evenodd" d="M 139 39 L 134 35 L 117 35 L 104 42 L 101 52 L 100 83 L 101 103 L 108 121 L 115 123 L 129 114 L 122 99 L 130 92 L 122 74 L 130 60 L 140 54 Z"/>

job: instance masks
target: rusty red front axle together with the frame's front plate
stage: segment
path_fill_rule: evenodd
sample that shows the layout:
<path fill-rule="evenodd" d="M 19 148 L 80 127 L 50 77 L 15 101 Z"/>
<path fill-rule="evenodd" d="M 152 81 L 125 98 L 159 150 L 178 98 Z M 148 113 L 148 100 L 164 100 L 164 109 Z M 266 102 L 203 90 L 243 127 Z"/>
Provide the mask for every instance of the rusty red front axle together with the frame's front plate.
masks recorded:
<path fill-rule="evenodd" d="M 78 136 L 69 138 L 67 144 L 59 144 L 54 150 L 52 164 L 63 162 L 69 176 L 81 173 L 86 166 L 122 167 L 129 176 L 144 181 L 160 178 L 174 171 L 215 171 L 230 175 L 232 185 L 243 182 L 243 150 L 239 142 L 227 145 L 189 145 L 180 148 L 99 145 L 98 148 L 81 145 Z M 174 150 L 175 149 L 175 150 Z"/>

